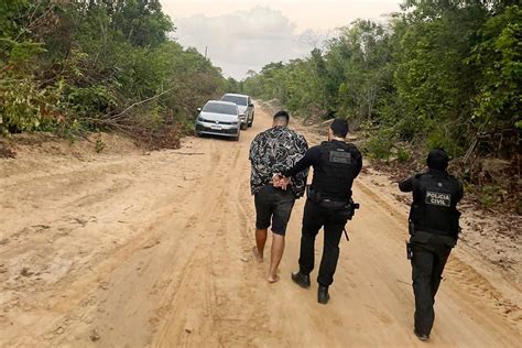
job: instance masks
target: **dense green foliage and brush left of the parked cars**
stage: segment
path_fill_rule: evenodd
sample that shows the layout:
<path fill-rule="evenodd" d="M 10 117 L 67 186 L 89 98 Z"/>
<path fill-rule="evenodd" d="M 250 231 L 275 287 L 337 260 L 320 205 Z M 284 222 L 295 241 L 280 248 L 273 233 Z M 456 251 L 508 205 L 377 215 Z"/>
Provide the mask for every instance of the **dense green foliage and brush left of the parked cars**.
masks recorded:
<path fill-rule="evenodd" d="M 159 0 L 0 2 L 0 134 L 180 124 L 228 81 Z"/>

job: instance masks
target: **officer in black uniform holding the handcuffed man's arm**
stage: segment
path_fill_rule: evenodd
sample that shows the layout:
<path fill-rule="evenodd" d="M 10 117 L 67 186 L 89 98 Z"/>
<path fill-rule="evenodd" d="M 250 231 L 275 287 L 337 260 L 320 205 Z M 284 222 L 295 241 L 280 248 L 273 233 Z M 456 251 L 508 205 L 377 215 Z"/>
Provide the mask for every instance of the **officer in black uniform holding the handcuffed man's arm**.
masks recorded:
<path fill-rule="evenodd" d="M 348 122 L 336 119 L 328 130 L 328 141 L 309 149 L 294 167 L 281 173 L 291 177 L 314 167 L 314 178 L 307 191 L 301 237 L 300 271 L 292 280 L 302 287 L 309 287 L 309 273 L 314 269 L 314 244 L 319 229 L 325 229 L 323 259 L 320 261 L 317 300 L 326 304 L 328 286 L 339 259 L 339 241 L 348 219 L 354 215 L 351 185 L 362 168 L 362 155 L 354 144 L 346 142 Z"/>

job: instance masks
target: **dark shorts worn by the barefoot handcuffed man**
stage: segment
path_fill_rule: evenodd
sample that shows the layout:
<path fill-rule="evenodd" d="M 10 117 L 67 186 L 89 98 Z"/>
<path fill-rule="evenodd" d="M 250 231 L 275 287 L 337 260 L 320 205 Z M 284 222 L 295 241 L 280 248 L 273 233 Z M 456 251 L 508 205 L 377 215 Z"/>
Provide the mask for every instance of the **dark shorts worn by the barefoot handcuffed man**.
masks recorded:
<path fill-rule="evenodd" d="M 284 236 L 295 203 L 292 191 L 267 185 L 254 195 L 254 203 L 255 228 L 269 228 L 272 220 L 272 232 Z"/>

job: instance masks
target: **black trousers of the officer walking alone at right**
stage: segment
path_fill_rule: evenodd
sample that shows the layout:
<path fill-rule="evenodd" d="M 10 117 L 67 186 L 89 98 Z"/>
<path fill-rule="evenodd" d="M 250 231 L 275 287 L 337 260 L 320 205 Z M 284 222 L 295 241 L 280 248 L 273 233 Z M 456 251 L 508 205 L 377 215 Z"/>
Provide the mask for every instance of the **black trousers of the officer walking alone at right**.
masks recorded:
<path fill-rule="evenodd" d="M 452 248 L 442 242 L 412 241 L 412 278 L 415 294 L 415 331 L 428 335 L 435 320 L 435 295 Z"/>

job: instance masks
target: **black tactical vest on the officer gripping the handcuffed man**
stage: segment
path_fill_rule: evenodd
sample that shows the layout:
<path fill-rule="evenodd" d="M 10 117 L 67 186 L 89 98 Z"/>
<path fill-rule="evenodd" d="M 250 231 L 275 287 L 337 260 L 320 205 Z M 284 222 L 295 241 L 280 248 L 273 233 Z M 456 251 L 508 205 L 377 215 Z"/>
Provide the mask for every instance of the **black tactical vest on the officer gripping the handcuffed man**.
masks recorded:
<path fill-rule="evenodd" d="M 314 165 L 312 187 L 322 198 L 348 202 L 360 152 L 355 145 L 341 141 L 325 141 L 320 150 L 319 164 Z"/>

